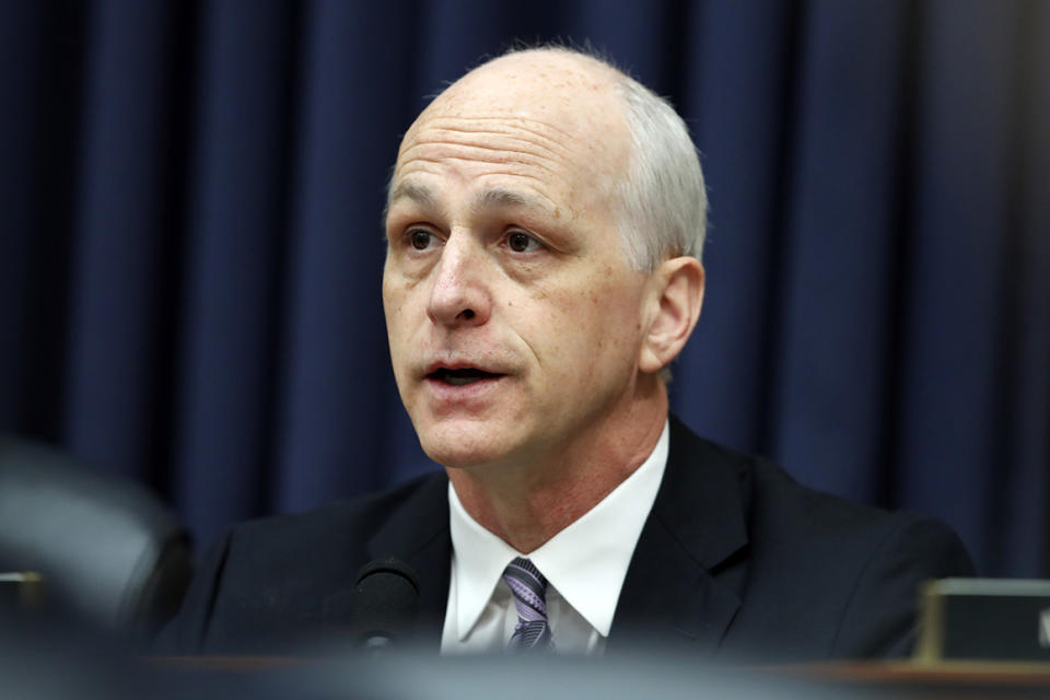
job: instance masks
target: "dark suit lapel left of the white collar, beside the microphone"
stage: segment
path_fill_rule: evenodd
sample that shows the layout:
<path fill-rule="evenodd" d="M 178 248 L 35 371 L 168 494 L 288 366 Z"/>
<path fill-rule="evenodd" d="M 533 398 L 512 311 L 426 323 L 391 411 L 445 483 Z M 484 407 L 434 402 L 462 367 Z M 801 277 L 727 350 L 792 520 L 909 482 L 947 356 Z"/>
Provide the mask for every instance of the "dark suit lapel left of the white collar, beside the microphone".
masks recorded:
<path fill-rule="evenodd" d="M 417 641 L 441 644 L 448 604 L 452 538 L 448 534 L 448 479 L 442 472 L 401 502 L 368 545 L 369 556 L 397 557 L 419 576 Z"/>

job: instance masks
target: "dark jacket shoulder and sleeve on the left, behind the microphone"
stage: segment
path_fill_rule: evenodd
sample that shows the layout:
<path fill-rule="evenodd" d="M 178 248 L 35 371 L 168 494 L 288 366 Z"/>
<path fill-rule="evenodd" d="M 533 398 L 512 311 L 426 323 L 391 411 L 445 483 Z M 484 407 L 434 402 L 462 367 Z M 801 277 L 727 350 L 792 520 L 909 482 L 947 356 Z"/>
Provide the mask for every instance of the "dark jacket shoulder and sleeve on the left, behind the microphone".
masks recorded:
<path fill-rule="evenodd" d="M 305 513 L 233 525 L 210 548 L 159 651 L 273 653 L 345 629 L 357 574 L 372 559 L 369 542 L 404 520 L 409 502 L 440 511 L 446 485 L 443 472 L 425 475 Z"/>

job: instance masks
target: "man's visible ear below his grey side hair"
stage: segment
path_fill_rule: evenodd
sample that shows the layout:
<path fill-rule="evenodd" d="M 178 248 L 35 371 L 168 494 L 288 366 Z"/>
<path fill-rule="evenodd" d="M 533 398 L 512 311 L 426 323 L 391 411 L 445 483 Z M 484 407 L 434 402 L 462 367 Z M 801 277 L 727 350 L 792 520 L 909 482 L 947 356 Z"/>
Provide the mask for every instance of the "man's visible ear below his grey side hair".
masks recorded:
<path fill-rule="evenodd" d="M 700 318 L 703 304 L 703 266 L 693 257 L 665 260 L 650 278 L 649 319 L 639 369 L 656 373 L 678 357 Z"/>

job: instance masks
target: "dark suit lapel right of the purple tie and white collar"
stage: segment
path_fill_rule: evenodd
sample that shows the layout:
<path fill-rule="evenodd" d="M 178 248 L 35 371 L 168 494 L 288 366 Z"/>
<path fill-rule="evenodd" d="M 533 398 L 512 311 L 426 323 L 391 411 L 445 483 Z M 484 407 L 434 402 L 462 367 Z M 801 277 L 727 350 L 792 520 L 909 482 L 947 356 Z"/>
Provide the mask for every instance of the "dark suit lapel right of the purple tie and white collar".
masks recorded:
<path fill-rule="evenodd" d="M 670 451 L 607 649 L 638 640 L 713 653 L 739 607 L 749 486 L 725 453 L 670 418 Z"/>

